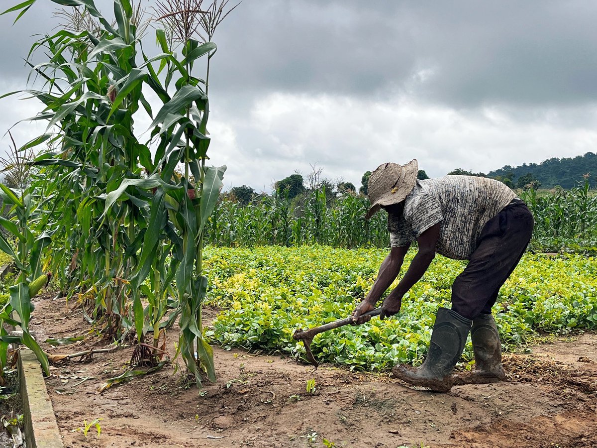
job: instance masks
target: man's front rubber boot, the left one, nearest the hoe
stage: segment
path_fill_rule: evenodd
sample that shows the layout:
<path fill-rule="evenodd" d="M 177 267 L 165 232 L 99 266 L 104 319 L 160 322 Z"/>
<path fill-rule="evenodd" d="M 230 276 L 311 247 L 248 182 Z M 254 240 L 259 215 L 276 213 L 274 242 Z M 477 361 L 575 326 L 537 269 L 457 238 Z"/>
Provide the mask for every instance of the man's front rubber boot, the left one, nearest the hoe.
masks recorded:
<path fill-rule="evenodd" d="M 472 321 L 456 311 L 439 308 L 425 362 L 417 369 L 401 364 L 392 369 L 396 378 L 414 386 L 436 392 L 448 392 L 453 385 L 452 369 L 456 366 L 469 335 Z"/>

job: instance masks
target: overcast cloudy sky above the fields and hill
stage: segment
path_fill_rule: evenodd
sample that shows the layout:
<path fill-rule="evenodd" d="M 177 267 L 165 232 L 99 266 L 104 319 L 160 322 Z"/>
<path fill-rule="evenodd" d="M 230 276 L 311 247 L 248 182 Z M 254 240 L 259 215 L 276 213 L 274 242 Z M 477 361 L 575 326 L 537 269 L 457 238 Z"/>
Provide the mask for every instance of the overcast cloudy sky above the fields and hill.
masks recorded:
<path fill-rule="evenodd" d="M 56 6 L 0 16 L 0 93 L 27 87 L 23 58 Z M 358 188 L 388 161 L 436 177 L 597 152 L 595 23 L 593 0 L 243 0 L 213 39 L 210 162 L 227 165 L 224 189 L 267 192 L 295 172 Z M 0 99 L 0 154 L 41 109 Z M 11 132 L 22 145 L 44 129 Z"/>

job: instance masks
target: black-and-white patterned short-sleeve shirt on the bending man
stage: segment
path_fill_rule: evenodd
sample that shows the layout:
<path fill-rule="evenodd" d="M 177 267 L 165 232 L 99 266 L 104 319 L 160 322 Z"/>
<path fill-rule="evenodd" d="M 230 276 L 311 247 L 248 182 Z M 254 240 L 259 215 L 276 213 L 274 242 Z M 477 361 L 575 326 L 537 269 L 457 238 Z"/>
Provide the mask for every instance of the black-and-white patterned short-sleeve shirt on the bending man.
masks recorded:
<path fill-rule="evenodd" d="M 485 224 L 516 197 L 502 182 L 476 176 L 417 180 L 401 215 L 389 213 L 392 247 L 409 246 L 431 226 L 440 224 L 436 252 L 467 260 Z"/>

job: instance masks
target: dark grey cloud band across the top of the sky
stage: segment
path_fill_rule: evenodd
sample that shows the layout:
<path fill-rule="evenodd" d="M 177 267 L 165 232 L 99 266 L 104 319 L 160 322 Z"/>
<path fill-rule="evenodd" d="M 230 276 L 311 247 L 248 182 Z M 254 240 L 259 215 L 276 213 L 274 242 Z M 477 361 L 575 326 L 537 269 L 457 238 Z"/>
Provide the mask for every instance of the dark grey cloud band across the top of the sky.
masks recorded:
<path fill-rule="evenodd" d="M 216 85 L 429 102 L 597 100 L 597 4 L 245 1 L 221 25 Z"/>

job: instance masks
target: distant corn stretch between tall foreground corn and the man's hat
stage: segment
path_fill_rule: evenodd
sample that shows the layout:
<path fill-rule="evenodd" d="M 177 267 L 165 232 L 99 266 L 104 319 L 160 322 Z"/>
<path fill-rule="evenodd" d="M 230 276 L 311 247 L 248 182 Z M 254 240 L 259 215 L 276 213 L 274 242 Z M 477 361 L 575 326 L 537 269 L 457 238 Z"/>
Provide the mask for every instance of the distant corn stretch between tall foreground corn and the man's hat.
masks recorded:
<path fill-rule="evenodd" d="M 289 201 L 275 193 L 248 205 L 221 200 L 207 228 L 213 246 L 250 247 L 268 244 L 333 247 L 387 247 L 389 235 L 384 213 L 366 221 L 369 202 L 363 196 L 343 195 L 327 200 L 325 191 L 309 192 Z"/>

